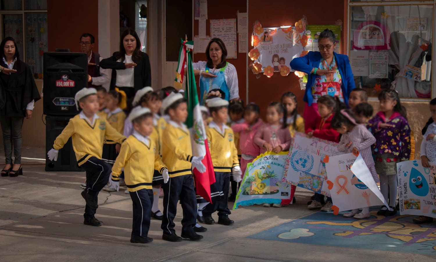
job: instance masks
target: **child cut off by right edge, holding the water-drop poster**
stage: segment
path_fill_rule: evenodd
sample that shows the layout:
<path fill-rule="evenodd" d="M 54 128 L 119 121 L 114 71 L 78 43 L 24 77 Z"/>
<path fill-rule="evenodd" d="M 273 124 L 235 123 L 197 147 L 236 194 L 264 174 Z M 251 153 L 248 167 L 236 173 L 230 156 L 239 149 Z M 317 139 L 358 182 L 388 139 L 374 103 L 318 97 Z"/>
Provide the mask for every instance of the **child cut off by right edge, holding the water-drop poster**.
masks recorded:
<path fill-rule="evenodd" d="M 433 121 L 433 123 L 426 124 L 422 129 L 421 162 L 422 166 L 425 168 L 430 167 L 429 162 L 436 162 L 436 98 L 430 101 L 430 113 L 430 120 Z M 424 215 L 413 219 L 413 223 L 416 224 L 431 222 L 433 222 L 433 218 Z"/>

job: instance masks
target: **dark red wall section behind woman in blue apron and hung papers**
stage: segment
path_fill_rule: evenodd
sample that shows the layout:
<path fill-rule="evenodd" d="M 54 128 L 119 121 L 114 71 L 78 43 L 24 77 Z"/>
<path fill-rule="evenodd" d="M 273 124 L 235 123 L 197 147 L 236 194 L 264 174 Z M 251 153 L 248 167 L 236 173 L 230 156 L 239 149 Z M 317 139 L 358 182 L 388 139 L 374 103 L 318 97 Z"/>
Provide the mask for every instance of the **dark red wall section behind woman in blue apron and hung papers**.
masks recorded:
<path fill-rule="evenodd" d="M 238 18 L 236 12 L 239 13 L 247 12 L 247 1 L 246 0 L 220 0 L 220 1 L 208 1 L 208 20 L 206 20 L 206 35 L 210 36 L 210 19 L 229 19 Z M 198 20 L 194 20 L 194 36 L 198 35 Z M 194 62 L 205 61 L 206 54 L 194 54 Z M 230 64 L 236 67 L 238 72 L 238 83 L 239 83 L 239 96 L 245 102 L 245 87 L 247 79 L 247 54 L 238 53 L 237 59 L 228 59 Z M 198 77 L 196 77 L 198 82 Z M 200 88 L 198 87 L 198 90 Z"/>

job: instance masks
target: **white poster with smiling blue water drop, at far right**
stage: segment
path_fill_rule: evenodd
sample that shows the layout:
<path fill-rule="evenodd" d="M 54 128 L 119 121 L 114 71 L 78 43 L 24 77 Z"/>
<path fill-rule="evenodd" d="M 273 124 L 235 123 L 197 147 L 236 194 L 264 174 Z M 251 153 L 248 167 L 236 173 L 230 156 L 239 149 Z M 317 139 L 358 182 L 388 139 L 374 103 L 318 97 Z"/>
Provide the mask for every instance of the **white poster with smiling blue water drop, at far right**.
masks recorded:
<path fill-rule="evenodd" d="M 398 196 L 401 215 L 436 218 L 436 163 L 422 167 L 420 160 L 397 164 Z"/>

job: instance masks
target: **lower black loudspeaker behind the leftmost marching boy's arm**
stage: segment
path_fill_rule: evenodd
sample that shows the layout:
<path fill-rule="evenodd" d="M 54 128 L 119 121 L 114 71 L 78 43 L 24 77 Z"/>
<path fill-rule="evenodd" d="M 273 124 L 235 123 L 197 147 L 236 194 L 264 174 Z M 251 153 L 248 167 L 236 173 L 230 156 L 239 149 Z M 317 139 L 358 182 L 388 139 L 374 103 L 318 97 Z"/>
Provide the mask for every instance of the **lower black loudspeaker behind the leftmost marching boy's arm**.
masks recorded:
<path fill-rule="evenodd" d="M 46 116 L 45 126 L 45 171 L 84 171 L 77 165 L 71 138 L 64 147 L 59 150 L 58 161 L 50 161 L 47 157 L 48 151 L 53 148 L 54 140 L 61 134 L 62 130 L 70 121 L 68 116 Z"/>

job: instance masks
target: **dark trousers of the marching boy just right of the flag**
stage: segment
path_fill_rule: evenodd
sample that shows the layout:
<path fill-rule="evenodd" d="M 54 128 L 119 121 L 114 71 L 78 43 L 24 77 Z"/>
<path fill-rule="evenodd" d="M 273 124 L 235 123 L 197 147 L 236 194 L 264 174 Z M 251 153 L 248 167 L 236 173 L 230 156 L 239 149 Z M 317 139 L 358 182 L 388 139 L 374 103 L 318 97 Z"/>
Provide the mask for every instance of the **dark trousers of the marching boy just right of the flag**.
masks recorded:
<path fill-rule="evenodd" d="M 212 203 L 203 209 L 203 216 L 211 216 L 215 211 L 218 211 L 218 217 L 231 214 L 230 209 L 228 209 L 230 174 L 229 172 L 215 172 L 216 182 L 211 185 L 211 195 L 213 192 L 215 192 L 215 195 L 212 197 Z"/>

